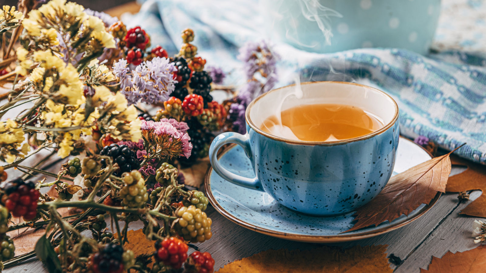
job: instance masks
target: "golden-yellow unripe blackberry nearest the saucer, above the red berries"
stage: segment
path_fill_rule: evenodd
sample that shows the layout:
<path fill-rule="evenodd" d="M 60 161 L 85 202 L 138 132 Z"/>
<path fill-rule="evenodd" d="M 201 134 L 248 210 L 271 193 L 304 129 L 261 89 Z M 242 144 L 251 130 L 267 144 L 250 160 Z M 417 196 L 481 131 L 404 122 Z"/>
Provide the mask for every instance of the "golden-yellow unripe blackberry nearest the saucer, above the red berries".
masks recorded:
<path fill-rule="evenodd" d="M 181 206 L 175 211 L 177 222 L 175 229 L 185 240 L 191 242 L 204 242 L 212 237 L 211 218 L 206 212 L 194 205 Z"/>

